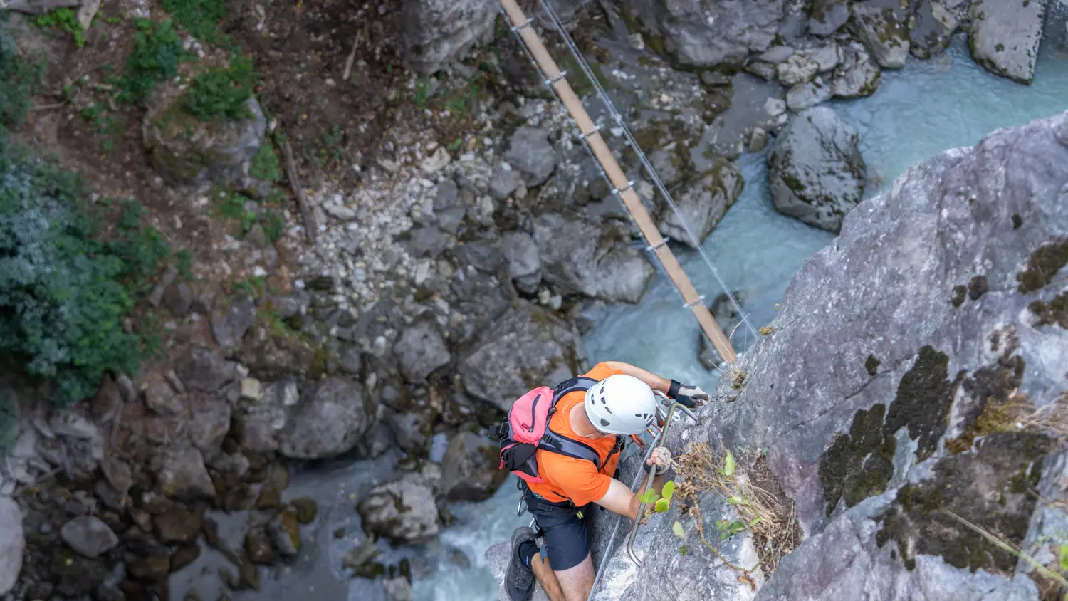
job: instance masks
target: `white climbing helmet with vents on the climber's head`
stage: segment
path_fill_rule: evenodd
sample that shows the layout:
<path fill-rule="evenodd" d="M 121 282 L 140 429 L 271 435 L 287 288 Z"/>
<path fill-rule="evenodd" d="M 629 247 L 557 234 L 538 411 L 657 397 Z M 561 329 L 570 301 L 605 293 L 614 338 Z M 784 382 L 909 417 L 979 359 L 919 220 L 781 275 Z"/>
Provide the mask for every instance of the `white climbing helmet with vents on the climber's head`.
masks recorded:
<path fill-rule="evenodd" d="M 653 423 L 657 398 L 645 382 L 616 374 L 586 391 L 585 407 L 586 416 L 598 430 L 609 434 L 637 434 Z"/>

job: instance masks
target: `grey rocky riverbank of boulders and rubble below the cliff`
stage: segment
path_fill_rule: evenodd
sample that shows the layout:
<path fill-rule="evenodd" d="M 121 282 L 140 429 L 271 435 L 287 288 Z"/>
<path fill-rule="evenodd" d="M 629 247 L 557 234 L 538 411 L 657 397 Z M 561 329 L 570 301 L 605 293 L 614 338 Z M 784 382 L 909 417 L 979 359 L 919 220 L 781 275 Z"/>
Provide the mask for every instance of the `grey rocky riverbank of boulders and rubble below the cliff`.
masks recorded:
<path fill-rule="evenodd" d="M 1027 81 L 1047 5 L 572 4 L 564 12 L 580 23 L 598 79 L 700 238 L 741 192 L 732 159 L 768 144 L 776 207 L 834 232 L 845 220 L 848 235 L 867 173 L 855 131 L 817 105 L 874 93 L 881 69 L 910 51 L 937 53 L 957 31 L 970 33 L 986 68 Z M 500 21 L 494 30 L 494 14 L 492 2 L 473 0 L 379 11 L 382 22 L 404 15 L 408 27 L 393 46 L 361 49 L 355 68 L 382 48 L 403 50 L 413 75 L 387 94 L 406 118 L 346 151 L 358 159 L 335 158 L 329 141 L 319 158 L 298 157 L 307 220 L 290 200 L 281 232 L 269 232 L 268 211 L 247 202 L 239 212 L 255 224 L 220 236 L 194 275 L 163 273 L 150 302 L 168 322 L 166 360 L 106 378 L 68 412 L 16 389 L 36 408 L 0 472 L 0 524 L 12 525 L 0 529 L 0 590 L 166 599 L 170 574 L 204 545 L 231 564 L 220 574 L 230 589 L 255 590 L 265 566 L 292 562 L 310 542 L 301 526 L 315 523 L 314 500 L 282 502 L 292 471 L 397 453 L 403 474 L 352 500 L 370 542 L 351 550 L 345 573 L 410 598 L 409 570 L 382 565 L 375 540 L 425 542 L 447 523 L 449 501 L 491 495 L 502 473 L 480 433 L 531 385 L 582 368 L 585 307 L 637 302 L 654 275 L 566 114 Z M 214 204 L 218 189 L 204 181 L 269 195 L 252 163 L 281 132 L 264 114 L 272 107 L 250 98 L 244 120 L 211 126 L 191 147 L 147 116 L 170 110 L 174 93 L 154 97 L 143 121 L 172 203 Z M 591 112 L 661 231 L 687 242 L 622 131 L 593 102 Z M 208 169 L 204 157 L 219 156 L 230 162 Z M 435 436 L 449 441 L 440 461 L 428 459 Z M 207 513 L 220 510 L 247 512 L 241 544 L 218 535 Z M 806 534 L 823 527 L 802 518 Z M 616 585 L 624 590 L 625 579 Z"/>

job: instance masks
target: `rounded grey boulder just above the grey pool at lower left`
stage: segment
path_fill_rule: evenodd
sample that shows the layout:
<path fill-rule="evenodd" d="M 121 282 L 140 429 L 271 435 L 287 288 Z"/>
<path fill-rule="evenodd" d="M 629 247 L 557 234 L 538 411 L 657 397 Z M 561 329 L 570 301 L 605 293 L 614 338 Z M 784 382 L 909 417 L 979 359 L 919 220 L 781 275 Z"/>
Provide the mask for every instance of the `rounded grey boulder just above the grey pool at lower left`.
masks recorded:
<path fill-rule="evenodd" d="M 279 453 L 290 459 L 329 459 L 350 450 L 374 422 L 357 382 L 328 378 L 305 391 L 278 434 Z"/>

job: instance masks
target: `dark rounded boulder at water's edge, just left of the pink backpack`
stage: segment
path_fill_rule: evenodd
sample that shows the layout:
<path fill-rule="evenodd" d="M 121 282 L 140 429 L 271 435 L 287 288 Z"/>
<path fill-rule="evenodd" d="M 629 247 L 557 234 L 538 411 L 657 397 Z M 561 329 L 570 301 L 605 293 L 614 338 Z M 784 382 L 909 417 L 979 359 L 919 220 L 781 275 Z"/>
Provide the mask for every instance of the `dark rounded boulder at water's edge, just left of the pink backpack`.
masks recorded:
<path fill-rule="evenodd" d="M 441 459 L 441 493 L 450 501 L 486 501 L 508 477 L 500 447 L 486 437 L 458 432 Z"/>

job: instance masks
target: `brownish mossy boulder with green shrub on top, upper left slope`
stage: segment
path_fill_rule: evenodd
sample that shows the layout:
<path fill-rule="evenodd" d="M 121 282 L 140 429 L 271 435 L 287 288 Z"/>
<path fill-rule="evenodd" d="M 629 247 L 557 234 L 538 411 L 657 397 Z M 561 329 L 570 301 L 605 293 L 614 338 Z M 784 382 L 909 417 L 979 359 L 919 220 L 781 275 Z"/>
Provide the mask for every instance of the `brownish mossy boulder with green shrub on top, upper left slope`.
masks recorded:
<path fill-rule="evenodd" d="M 254 96 L 246 100 L 247 117 L 199 120 L 182 108 L 182 91 L 173 82 L 157 88 L 141 132 L 148 159 L 160 175 L 176 184 L 197 185 L 237 181 L 248 174 L 267 131 L 267 120 Z"/>

